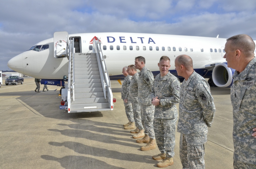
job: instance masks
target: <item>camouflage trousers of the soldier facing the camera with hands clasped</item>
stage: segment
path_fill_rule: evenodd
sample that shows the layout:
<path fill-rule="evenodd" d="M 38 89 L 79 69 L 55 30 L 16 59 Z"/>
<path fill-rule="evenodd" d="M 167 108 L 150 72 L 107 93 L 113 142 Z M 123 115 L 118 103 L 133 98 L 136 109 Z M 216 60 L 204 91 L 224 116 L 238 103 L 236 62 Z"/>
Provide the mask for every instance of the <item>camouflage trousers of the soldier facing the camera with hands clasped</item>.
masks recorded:
<path fill-rule="evenodd" d="M 167 158 L 174 156 L 176 121 L 177 118 L 154 119 L 156 144 L 161 153 L 166 153 Z"/>

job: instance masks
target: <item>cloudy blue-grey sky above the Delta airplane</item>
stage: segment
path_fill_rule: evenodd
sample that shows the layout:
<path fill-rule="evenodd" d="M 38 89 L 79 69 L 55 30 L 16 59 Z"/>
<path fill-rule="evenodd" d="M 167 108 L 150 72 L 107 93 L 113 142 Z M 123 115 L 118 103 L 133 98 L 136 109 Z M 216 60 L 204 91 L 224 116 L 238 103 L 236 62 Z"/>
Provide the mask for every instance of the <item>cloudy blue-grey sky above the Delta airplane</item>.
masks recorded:
<path fill-rule="evenodd" d="M 0 2 L 0 70 L 56 31 L 135 32 L 256 40 L 255 0 L 8 0 Z"/>

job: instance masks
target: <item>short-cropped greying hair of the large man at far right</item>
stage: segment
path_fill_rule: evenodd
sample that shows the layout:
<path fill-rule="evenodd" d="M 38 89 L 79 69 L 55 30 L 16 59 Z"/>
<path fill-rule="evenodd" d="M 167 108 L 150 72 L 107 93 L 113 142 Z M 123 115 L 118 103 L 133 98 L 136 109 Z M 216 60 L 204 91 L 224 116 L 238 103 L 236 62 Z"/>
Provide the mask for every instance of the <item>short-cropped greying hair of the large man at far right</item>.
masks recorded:
<path fill-rule="evenodd" d="M 234 35 L 227 39 L 227 41 L 231 41 L 230 48 L 231 50 L 240 50 L 245 55 L 252 55 L 255 50 L 255 43 L 253 39 L 247 34 L 239 34 Z M 254 54 L 253 54 L 254 56 Z"/>

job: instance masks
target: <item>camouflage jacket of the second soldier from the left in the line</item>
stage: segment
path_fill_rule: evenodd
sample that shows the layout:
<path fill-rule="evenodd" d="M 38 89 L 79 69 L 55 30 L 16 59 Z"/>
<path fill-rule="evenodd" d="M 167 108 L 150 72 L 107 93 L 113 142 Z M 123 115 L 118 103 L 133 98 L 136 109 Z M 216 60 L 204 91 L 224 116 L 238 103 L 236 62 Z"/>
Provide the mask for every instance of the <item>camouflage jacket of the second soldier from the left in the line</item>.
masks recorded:
<path fill-rule="evenodd" d="M 131 78 L 131 84 L 129 88 L 128 100 L 133 104 L 139 103 L 138 102 L 138 78 L 139 78 L 139 74 L 135 73 Z"/>

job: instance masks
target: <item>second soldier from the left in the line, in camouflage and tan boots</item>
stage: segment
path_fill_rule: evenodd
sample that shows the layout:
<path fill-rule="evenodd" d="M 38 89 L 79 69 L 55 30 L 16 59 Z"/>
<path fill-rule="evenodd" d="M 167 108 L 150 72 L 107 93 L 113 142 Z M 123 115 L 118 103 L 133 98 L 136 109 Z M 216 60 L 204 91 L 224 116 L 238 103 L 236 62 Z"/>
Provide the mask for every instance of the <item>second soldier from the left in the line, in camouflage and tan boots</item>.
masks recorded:
<path fill-rule="evenodd" d="M 132 76 L 131 84 L 129 88 L 128 100 L 132 103 L 133 113 L 135 125 L 137 128 L 135 130 L 130 131 L 131 133 L 136 133 L 133 138 L 141 138 L 144 137 L 144 128 L 141 123 L 141 106 L 138 101 L 138 78 L 139 74 L 137 73 L 137 69 L 134 65 L 129 65 L 127 68 L 127 73 Z"/>

